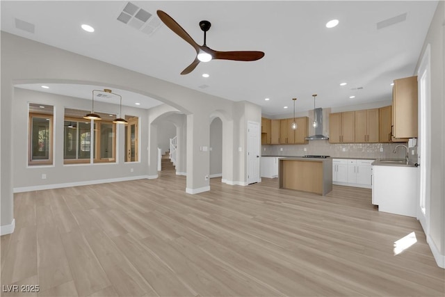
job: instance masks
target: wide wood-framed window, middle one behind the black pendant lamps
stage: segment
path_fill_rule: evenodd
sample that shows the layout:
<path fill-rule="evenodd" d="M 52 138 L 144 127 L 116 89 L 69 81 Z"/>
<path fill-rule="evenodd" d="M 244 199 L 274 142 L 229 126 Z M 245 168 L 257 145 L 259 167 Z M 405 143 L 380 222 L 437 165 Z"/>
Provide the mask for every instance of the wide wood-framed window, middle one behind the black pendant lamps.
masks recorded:
<path fill-rule="evenodd" d="M 63 159 L 70 163 L 115 162 L 116 115 L 99 113 L 102 120 L 83 119 L 88 111 L 65 109 Z"/>

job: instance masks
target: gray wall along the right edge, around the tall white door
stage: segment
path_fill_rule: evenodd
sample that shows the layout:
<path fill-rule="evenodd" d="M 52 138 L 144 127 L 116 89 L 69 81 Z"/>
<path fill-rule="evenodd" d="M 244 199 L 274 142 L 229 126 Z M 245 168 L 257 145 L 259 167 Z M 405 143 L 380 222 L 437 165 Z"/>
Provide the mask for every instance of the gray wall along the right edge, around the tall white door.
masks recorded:
<path fill-rule="evenodd" d="M 445 3 L 439 1 L 426 36 L 423 52 L 431 47 L 431 191 L 430 232 L 433 241 L 445 261 Z M 417 72 L 417 70 L 416 70 Z M 415 73 L 416 73 L 415 72 Z"/>

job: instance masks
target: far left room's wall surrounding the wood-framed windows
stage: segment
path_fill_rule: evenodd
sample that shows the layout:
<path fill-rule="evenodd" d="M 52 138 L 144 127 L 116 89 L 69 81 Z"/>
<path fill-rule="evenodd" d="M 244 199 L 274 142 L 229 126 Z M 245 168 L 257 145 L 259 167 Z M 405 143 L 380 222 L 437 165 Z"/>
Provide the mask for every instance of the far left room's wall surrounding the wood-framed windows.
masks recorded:
<path fill-rule="evenodd" d="M 28 166 L 29 113 L 28 104 L 48 104 L 54 106 L 54 165 Z M 94 182 L 102 179 L 132 179 L 147 175 L 147 150 L 140 150 L 138 162 L 124 162 L 124 125 L 117 125 L 116 163 L 64 165 L 63 128 L 65 108 L 90 111 L 91 101 L 62 95 L 14 89 L 13 100 L 13 187 L 15 191 L 31 191 L 49 188 L 60 184 Z M 116 104 L 95 102 L 95 111 L 111 113 L 119 111 Z M 147 115 L 143 109 L 122 106 L 122 115 L 136 115 L 140 118 L 140 135 L 147 134 Z M 140 137 L 140 147 L 147 147 L 147 137 Z M 133 168 L 133 172 L 131 172 Z M 47 176 L 42 179 L 42 174 Z"/>

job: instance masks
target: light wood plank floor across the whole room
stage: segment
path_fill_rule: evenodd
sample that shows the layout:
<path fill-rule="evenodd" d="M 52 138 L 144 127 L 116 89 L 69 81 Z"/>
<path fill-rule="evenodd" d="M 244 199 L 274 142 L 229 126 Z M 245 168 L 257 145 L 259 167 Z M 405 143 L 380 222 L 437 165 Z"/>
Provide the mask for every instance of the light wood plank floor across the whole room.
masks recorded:
<path fill-rule="evenodd" d="M 15 194 L 1 284 L 40 292 L 2 296 L 444 296 L 419 222 L 378 212 L 369 189 L 185 186 L 162 172 Z M 412 232 L 417 242 L 394 255 Z"/>

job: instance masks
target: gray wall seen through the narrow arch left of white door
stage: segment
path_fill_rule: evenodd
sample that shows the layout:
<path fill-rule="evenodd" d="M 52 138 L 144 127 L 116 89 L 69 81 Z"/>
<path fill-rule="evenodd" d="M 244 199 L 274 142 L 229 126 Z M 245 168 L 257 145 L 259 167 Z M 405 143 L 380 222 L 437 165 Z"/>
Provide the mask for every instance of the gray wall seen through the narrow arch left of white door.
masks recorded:
<path fill-rule="evenodd" d="M 215 118 L 210 124 L 210 175 L 223 173 L 223 122 Z"/>

